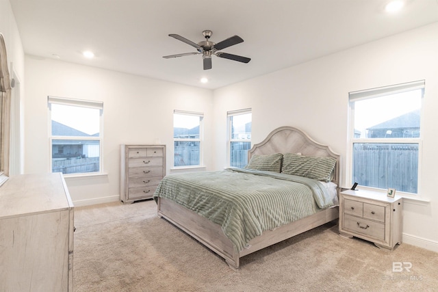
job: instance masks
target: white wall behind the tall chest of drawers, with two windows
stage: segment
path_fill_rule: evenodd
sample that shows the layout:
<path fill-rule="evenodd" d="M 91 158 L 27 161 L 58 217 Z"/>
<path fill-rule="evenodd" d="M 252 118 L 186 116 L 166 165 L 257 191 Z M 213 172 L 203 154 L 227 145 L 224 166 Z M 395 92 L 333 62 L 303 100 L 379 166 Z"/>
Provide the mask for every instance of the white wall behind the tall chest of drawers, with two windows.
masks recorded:
<path fill-rule="evenodd" d="M 120 144 L 166 144 L 169 173 L 174 109 L 205 114 L 205 165 L 213 165 L 211 90 L 30 55 L 25 62 L 25 173 L 50 171 L 47 96 L 103 101 L 106 175 L 66 178 L 76 206 L 119 200 Z"/>

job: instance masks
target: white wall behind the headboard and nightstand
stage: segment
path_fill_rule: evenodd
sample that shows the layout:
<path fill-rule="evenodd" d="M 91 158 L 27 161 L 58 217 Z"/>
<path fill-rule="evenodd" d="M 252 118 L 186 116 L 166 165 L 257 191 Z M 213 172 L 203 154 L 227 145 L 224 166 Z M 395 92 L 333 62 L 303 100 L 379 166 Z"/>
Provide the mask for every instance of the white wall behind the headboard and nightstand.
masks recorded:
<path fill-rule="evenodd" d="M 404 241 L 438 251 L 438 23 L 214 91 L 216 168 L 224 166 L 227 111 L 253 109 L 253 144 L 281 126 L 298 127 L 348 163 L 348 92 L 426 80 L 420 195 L 405 200 Z"/>

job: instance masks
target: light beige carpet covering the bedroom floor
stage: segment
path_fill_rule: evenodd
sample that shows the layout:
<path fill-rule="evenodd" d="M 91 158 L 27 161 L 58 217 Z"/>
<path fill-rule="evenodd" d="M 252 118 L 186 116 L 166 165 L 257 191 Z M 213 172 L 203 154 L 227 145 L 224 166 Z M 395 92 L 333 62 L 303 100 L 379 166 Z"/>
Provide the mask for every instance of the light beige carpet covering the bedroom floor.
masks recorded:
<path fill-rule="evenodd" d="M 76 292 L 438 291 L 437 253 L 406 243 L 387 252 L 335 224 L 245 256 L 239 271 L 157 217 L 153 200 L 77 207 L 75 227 Z M 403 262 L 410 271 L 398 271 Z"/>

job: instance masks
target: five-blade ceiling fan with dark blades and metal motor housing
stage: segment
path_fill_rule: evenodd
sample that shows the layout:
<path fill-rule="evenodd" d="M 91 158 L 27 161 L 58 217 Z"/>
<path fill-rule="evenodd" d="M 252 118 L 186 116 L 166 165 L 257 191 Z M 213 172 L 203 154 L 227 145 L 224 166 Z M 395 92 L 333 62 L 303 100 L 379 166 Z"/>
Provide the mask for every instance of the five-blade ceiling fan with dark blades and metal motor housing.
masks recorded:
<path fill-rule="evenodd" d="M 165 59 L 175 58 L 175 57 L 183 57 L 188 55 L 203 55 L 203 63 L 204 63 L 204 70 L 211 69 L 211 56 L 216 55 L 217 57 L 221 57 L 224 59 L 231 59 L 233 61 L 242 62 L 242 63 L 248 63 L 250 62 L 250 58 L 248 57 L 242 57 L 239 55 L 233 55 L 229 53 L 222 53 L 219 52 L 222 49 L 231 47 L 235 44 L 239 44 L 240 42 L 243 42 L 242 38 L 240 36 L 232 36 L 231 38 L 227 38 L 227 40 L 222 40 L 222 42 L 211 42 L 209 41 L 209 38 L 213 34 L 211 30 L 205 30 L 203 31 L 203 35 L 205 37 L 205 40 L 198 42 L 192 42 L 191 40 L 188 40 L 187 38 L 183 38 L 182 36 L 179 36 L 178 34 L 170 34 L 172 38 L 176 38 L 177 40 L 181 40 L 181 42 L 185 42 L 186 44 L 190 44 L 190 46 L 194 47 L 197 52 L 195 53 L 182 53 L 177 55 L 168 55 L 163 56 Z"/>

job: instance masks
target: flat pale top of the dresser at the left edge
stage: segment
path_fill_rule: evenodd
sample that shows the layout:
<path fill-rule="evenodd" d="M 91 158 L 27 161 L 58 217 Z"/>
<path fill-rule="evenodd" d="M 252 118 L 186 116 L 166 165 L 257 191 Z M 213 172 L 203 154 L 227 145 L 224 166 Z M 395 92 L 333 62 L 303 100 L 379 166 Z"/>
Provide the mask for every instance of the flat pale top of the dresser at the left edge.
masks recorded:
<path fill-rule="evenodd" d="M 0 217 L 73 208 L 60 172 L 11 176 L 0 187 Z"/>

